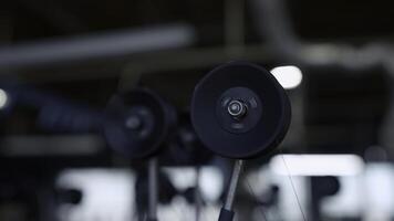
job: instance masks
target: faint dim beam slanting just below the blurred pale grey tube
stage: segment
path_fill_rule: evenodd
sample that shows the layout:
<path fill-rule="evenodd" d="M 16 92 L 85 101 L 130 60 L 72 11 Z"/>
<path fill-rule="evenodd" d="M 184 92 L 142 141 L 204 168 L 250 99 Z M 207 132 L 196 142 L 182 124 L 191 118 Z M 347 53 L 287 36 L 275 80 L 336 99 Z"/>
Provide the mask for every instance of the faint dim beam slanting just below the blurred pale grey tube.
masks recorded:
<path fill-rule="evenodd" d="M 90 78 L 105 78 L 108 76 L 118 76 L 113 70 L 122 69 L 120 83 L 122 86 L 129 86 L 141 76 L 141 74 L 154 73 L 157 71 L 174 71 L 201 69 L 217 65 L 231 60 L 243 60 L 251 62 L 272 62 L 273 54 L 268 51 L 263 44 L 249 44 L 242 46 L 242 51 L 238 54 L 229 54 L 228 50 L 222 46 L 200 48 L 200 49 L 177 49 L 167 51 L 156 51 L 154 53 L 139 53 L 133 55 L 131 60 L 127 56 L 105 60 L 102 62 L 95 60 L 84 62 L 84 65 L 62 66 L 62 69 L 19 69 L 15 73 L 23 80 L 34 83 L 52 83 L 52 82 L 72 82 Z M 155 64 L 155 65 L 152 65 Z M 0 66 L 1 72 L 1 66 Z M 55 74 L 54 74 L 55 73 Z M 187 74 L 188 72 L 185 72 Z M 121 86 L 121 87 L 122 87 Z"/>

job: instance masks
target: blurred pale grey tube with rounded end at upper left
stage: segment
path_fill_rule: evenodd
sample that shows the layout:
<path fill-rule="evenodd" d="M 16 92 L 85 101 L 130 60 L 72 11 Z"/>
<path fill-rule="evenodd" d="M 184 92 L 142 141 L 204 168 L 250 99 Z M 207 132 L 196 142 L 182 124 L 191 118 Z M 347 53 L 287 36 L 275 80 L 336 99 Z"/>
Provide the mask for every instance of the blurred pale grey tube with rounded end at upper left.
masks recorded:
<path fill-rule="evenodd" d="M 131 55 L 183 48 L 194 41 L 193 28 L 173 24 L 27 43 L 0 49 L 0 70 Z"/>

